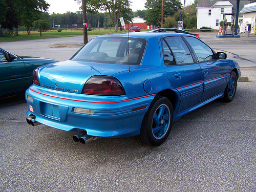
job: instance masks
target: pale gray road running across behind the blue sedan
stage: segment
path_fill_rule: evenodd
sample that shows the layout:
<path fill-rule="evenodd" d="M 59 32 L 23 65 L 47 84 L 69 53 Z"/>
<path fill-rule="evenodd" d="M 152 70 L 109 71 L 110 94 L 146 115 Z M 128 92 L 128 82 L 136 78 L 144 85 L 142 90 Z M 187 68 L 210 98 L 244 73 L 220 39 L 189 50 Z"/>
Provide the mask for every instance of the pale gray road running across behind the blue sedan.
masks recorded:
<path fill-rule="evenodd" d="M 217 33 L 200 32 L 200 38 L 216 52 L 225 51 L 228 58 L 236 60 L 241 67 L 256 67 L 256 35 L 245 38 L 216 38 Z M 89 35 L 91 40 L 97 35 Z M 83 37 L 62 37 L 15 42 L 0 42 L 0 47 L 21 56 L 36 56 L 68 60 L 82 47 Z"/>

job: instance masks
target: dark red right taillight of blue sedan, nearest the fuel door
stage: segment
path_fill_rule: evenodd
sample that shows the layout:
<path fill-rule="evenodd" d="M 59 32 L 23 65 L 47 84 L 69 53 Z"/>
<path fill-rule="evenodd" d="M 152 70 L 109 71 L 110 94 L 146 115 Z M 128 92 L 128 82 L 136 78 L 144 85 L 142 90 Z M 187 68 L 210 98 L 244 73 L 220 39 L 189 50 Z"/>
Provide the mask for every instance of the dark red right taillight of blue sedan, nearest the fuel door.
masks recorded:
<path fill-rule="evenodd" d="M 86 84 L 84 84 L 83 94 L 90 95 L 124 95 L 124 89 L 115 77 L 97 75 L 91 77 Z"/>

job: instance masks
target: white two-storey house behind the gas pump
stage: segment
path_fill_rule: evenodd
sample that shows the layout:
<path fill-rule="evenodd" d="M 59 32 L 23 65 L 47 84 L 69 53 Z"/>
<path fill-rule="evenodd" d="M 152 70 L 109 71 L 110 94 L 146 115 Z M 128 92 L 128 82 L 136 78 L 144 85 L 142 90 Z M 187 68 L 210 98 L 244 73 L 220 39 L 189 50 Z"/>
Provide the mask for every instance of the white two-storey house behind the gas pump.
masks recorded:
<path fill-rule="evenodd" d="M 239 10 L 249 1 L 240 1 Z M 197 5 L 197 28 L 210 27 L 219 29 L 220 22 L 223 20 L 223 14 L 236 13 L 237 1 L 218 1 L 218 0 L 198 0 Z M 240 15 L 240 20 L 243 15 Z M 233 22 L 231 15 L 226 15 L 227 22 Z"/>

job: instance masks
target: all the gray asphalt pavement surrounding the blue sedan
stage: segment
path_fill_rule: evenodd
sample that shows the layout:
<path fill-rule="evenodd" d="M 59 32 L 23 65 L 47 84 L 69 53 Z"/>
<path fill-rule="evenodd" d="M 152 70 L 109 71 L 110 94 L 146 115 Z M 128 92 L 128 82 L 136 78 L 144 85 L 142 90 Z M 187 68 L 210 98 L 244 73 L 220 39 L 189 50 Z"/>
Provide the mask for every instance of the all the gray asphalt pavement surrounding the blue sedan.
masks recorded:
<path fill-rule="evenodd" d="M 236 59 L 249 81 L 238 82 L 232 102 L 216 100 L 183 116 L 158 147 L 143 145 L 138 137 L 75 143 L 72 132 L 28 125 L 24 94 L 0 99 L 0 190 L 255 191 L 256 39 L 214 35 L 200 33 L 209 46 Z M 72 46 L 65 38 L 0 47 L 61 60 L 79 49 L 82 37 L 71 41 Z M 50 46 L 57 44 L 67 47 Z"/>

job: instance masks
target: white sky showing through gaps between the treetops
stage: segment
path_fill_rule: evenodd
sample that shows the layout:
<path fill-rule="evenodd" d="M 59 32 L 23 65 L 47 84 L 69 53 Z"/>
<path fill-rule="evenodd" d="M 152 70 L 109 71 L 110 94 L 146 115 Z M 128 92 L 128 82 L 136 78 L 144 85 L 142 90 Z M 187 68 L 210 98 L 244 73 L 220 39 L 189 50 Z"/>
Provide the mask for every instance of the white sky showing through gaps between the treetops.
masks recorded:
<path fill-rule="evenodd" d="M 81 5 L 77 5 L 77 2 L 74 0 L 46 0 L 48 4 L 50 4 L 50 7 L 48 9 L 48 12 L 50 14 L 54 13 L 66 13 L 67 11 L 70 12 L 76 12 L 79 11 L 79 7 Z M 133 11 L 143 10 L 146 0 L 131 0 L 131 8 Z M 189 5 L 193 3 L 194 0 L 186 0 L 185 5 Z M 184 3 L 184 0 L 181 0 L 181 3 Z"/>

